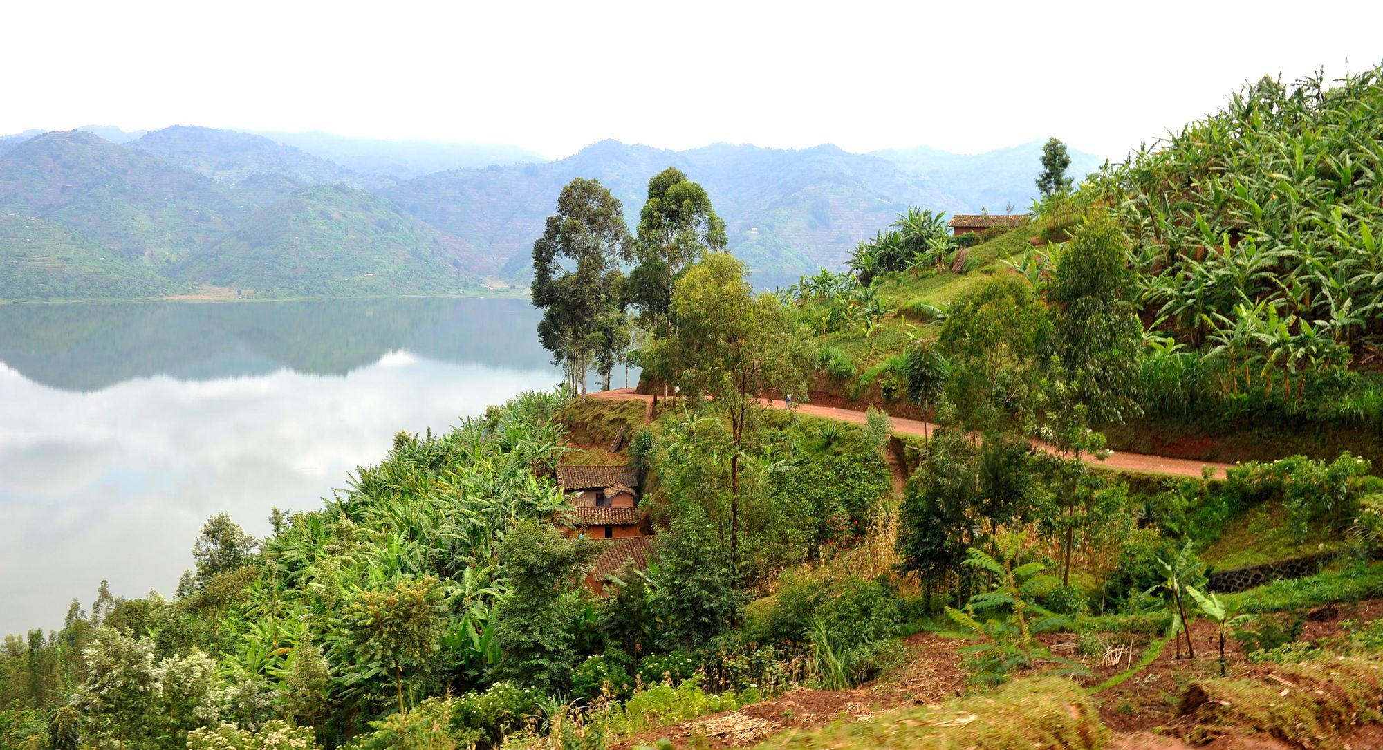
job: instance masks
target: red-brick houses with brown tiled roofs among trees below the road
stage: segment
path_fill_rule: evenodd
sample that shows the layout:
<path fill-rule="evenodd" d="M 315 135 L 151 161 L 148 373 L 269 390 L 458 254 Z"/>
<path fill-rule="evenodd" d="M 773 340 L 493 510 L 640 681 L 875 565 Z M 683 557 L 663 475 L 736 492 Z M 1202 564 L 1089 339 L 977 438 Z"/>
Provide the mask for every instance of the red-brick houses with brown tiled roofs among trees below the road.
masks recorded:
<path fill-rule="evenodd" d="M 639 469 L 628 465 L 557 466 L 557 484 L 571 511 L 557 522 L 568 537 L 595 540 L 602 551 L 586 585 L 604 592 L 606 581 L 626 566 L 646 567 L 653 554 L 653 523 L 639 508 Z"/>

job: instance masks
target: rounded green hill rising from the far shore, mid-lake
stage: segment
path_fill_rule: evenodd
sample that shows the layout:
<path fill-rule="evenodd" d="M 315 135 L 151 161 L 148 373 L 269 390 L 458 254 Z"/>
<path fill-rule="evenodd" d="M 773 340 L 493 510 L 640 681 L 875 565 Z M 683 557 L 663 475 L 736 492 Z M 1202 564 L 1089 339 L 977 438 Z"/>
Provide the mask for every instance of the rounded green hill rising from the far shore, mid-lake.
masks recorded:
<path fill-rule="evenodd" d="M 458 293 L 492 270 L 466 242 L 344 185 L 318 185 L 242 220 L 174 278 L 254 296 Z"/>

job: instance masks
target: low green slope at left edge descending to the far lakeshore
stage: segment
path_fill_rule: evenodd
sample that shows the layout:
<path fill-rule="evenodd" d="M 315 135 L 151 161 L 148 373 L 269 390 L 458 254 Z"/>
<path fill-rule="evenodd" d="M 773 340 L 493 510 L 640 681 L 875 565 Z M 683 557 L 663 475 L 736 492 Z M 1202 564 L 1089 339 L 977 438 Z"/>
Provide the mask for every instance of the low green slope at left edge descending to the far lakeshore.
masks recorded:
<path fill-rule="evenodd" d="M 184 288 L 47 219 L 0 213 L 0 300 L 140 299 Z"/>

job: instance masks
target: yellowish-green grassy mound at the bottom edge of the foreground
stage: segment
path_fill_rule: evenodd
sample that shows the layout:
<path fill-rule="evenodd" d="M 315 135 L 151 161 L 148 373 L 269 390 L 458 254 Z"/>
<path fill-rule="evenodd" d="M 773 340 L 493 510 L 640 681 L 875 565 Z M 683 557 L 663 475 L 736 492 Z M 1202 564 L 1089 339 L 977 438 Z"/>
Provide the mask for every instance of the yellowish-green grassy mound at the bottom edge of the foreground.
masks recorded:
<path fill-rule="evenodd" d="M 758 747 L 1094 750 L 1106 738 L 1108 731 L 1084 690 L 1069 679 L 1037 677 L 929 708 L 884 711 L 862 721 L 842 717 L 819 729 L 779 735 Z"/>

